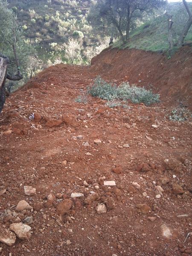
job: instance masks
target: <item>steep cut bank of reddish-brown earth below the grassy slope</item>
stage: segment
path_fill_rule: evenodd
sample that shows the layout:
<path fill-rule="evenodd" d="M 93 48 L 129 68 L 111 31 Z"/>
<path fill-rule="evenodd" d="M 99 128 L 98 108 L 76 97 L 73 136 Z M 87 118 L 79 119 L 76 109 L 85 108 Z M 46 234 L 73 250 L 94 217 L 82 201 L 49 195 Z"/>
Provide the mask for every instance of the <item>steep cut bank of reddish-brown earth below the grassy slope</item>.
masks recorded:
<path fill-rule="evenodd" d="M 108 80 L 152 85 L 161 99 L 191 104 L 192 49 L 183 47 L 172 58 L 137 49 L 106 49 L 91 61 L 91 71 Z M 170 99 L 169 99 L 170 101 Z M 177 104 L 177 103 L 176 103 Z"/>

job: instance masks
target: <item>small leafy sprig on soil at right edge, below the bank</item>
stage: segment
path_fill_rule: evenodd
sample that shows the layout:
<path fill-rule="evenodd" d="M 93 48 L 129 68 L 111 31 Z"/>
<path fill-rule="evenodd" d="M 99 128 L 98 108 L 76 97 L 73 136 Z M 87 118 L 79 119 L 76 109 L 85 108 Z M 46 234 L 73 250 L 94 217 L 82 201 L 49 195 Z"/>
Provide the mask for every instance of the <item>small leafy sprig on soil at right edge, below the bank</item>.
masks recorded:
<path fill-rule="evenodd" d="M 169 120 L 184 122 L 187 119 L 192 117 L 192 113 L 187 108 L 177 107 L 171 111 L 171 115 L 169 116 Z"/>

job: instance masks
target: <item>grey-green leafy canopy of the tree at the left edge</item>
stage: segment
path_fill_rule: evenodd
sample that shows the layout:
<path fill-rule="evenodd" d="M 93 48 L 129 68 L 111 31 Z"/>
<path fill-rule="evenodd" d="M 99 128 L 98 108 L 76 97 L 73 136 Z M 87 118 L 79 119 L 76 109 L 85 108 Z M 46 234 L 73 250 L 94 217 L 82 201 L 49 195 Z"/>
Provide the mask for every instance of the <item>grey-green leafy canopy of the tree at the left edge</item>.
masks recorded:
<path fill-rule="evenodd" d="M 9 58 L 8 74 L 26 72 L 35 49 L 23 37 L 17 17 L 8 9 L 6 0 L 0 0 L 0 53 Z M 15 54 L 16 53 L 16 54 Z"/>

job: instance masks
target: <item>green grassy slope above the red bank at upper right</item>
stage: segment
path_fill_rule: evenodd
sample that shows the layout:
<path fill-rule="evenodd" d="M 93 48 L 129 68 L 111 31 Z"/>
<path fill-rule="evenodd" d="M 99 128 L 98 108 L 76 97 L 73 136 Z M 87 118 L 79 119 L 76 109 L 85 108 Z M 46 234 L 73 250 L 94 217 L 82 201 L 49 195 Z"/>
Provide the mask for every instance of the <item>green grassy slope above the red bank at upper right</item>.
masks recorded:
<path fill-rule="evenodd" d="M 189 6 L 192 10 L 192 3 L 189 3 Z M 167 6 L 166 11 L 173 15 L 173 38 L 176 43 L 188 15 L 182 3 L 170 4 Z M 122 43 L 118 41 L 113 47 L 121 49 L 129 47 L 154 52 L 164 52 L 169 49 L 167 26 L 166 15 L 161 14 L 158 17 L 153 17 L 131 32 L 130 40 L 126 45 L 122 45 Z M 185 41 L 192 41 L 192 27 L 189 29 Z"/>

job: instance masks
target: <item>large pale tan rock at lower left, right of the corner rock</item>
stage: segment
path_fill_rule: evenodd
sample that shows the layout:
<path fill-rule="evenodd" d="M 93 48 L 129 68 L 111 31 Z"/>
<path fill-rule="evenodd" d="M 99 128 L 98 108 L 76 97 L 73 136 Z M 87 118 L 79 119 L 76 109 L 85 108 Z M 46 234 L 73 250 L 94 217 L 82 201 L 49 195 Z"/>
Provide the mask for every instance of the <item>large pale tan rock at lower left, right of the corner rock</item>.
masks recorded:
<path fill-rule="evenodd" d="M 31 233 L 30 233 L 31 227 L 21 222 L 11 224 L 10 230 L 14 231 L 16 236 L 22 240 L 28 240 L 31 236 Z"/>

